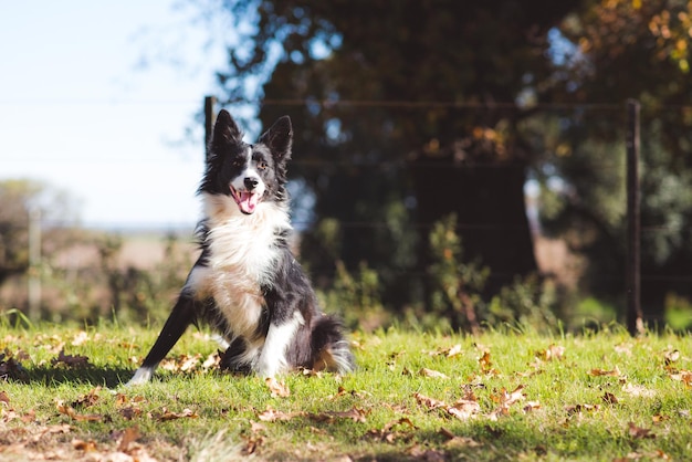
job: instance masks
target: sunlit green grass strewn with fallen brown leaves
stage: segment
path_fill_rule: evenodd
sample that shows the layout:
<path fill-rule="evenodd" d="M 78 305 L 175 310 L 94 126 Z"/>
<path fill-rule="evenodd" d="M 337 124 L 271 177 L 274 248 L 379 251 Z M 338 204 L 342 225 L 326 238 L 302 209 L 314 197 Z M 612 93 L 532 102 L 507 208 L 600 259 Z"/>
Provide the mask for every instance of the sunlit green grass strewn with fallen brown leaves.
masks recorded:
<path fill-rule="evenodd" d="M 692 451 L 688 336 L 357 333 L 356 372 L 292 374 L 281 378 L 290 395 L 277 397 L 258 377 L 202 370 L 216 344 L 190 329 L 169 355 L 171 370 L 123 387 L 157 333 L 0 326 L 0 461 L 612 461 Z M 53 365 L 61 349 L 88 364 Z M 177 369 L 196 354 L 196 368 Z M 506 401 L 517 387 L 521 399 Z M 463 419 L 448 410 L 461 398 L 475 403 Z"/>

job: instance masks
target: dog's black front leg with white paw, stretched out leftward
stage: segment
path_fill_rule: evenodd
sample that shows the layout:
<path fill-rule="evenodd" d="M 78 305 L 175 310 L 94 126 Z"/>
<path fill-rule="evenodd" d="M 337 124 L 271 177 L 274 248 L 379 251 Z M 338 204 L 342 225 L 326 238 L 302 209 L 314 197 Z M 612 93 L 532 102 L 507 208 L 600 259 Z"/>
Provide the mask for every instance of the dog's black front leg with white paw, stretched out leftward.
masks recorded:
<path fill-rule="evenodd" d="M 168 351 L 176 345 L 182 333 L 195 319 L 195 300 L 185 292 L 178 297 L 178 302 L 172 308 L 170 316 L 166 321 L 151 350 L 144 359 L 127 386 L 139 385 L 149 381 L 158 364 L 166 357 Z"/>

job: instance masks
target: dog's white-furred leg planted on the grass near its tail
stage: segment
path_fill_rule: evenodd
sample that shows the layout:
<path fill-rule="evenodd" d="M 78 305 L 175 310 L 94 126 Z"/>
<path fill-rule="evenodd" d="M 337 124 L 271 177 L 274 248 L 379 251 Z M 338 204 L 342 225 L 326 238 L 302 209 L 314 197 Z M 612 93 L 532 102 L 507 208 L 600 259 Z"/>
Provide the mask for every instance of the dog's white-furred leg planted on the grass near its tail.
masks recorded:
<path fill-rule="evenodd" d="M 286 348 L 295 343 L 295 336 L 305 323 L 301 313 L 295 312 L 292 318 L 281 323 L 272 322 L 256 365 L 256 372 L 262 377 L 274 377 L 295 365 L 286 360 Z"/>

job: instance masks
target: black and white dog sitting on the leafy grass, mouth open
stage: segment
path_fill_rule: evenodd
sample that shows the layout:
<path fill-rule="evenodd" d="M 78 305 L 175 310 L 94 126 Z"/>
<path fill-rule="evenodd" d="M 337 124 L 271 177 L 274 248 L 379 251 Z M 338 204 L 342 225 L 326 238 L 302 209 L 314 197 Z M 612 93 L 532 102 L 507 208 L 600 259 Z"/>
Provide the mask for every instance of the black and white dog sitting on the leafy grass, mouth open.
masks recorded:
<path fill-rule="evenodd" d="M 128 385 L 146 382 L 190 324 L 228 343 L 222 367 L 274 377 L 293 368 L 348 372 L 354 357 L 338 321 L 323 314 L 289 249 L 286 162 L 293 129 L 281 117 L 254 145 L 227 111 L 217 118 L 199 187 L 202 252 L 158 339 Z"/>

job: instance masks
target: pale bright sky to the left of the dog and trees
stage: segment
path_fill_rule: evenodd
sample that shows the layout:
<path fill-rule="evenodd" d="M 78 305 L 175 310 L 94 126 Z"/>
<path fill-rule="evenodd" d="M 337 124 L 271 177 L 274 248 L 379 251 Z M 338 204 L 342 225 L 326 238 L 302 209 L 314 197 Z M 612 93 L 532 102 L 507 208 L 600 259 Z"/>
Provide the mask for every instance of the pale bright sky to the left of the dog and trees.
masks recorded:
<path fill-rule="evenodd" d="M 0 180 L 65 190 L 90 227 L 192 227 L 186 128 L 222 48 L 176 0 L 0 0 Z"/>

